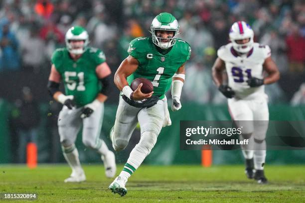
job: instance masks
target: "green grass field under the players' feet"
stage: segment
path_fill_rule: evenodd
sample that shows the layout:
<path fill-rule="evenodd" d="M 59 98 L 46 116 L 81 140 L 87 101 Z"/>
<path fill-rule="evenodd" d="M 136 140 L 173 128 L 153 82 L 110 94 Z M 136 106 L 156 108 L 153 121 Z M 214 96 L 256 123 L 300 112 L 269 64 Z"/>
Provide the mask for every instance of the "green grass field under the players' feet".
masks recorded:
<path fill-rule="evenodd" d="M 118 167 L 118 173 L 122 167 Z M 34 170 L 24 166 L 0 165 L 0 196 L 3 198 L 3 193 L 36 193 L 38 199 L 31 202 L 41 203 L 305 201 L 304 165 L 267 166 L 268 185 L 246 179 L 243 166 L 144 165 L 129 179 L 125 197 L 114 195 L 107 189 L 112 179 L 105 178 L 102 165 L 85 165 L 84 170 L 86 182 L 64 184 L 63 180 L 70 175 L 68 165 L 40 165 Z"/>

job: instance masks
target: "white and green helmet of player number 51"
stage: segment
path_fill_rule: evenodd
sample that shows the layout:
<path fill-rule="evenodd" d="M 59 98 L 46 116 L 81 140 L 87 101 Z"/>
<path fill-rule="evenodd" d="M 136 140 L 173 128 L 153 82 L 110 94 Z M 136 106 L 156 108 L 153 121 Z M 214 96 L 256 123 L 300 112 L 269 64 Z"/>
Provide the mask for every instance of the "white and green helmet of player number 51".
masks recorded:
<path fill-rule="evenodd" d="M 73 47 L 70 40 L 84 40 L 84 45 L 83 47 Z M 73 26 L 67 31 L 65 41 L 67 49 L 71 54 L 82 54 L 89 43 L 89 35 L 83 27 Z"/>

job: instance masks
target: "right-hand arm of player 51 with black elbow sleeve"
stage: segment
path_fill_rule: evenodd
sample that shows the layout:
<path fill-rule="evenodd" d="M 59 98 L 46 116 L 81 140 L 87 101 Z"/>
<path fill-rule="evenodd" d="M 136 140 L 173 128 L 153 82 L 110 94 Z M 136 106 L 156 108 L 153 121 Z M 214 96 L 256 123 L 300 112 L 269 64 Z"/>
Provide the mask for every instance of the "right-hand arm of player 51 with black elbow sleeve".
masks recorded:
<path fill-rule="evenodd" d="M 101 93 L 98 94 L 96 100 L 98 102 L 105 102 L 109 95 L 109 86 L 111 83 L 111 70 L 106 62 L 96 67 L 96 75 L 102 83 Z"/>

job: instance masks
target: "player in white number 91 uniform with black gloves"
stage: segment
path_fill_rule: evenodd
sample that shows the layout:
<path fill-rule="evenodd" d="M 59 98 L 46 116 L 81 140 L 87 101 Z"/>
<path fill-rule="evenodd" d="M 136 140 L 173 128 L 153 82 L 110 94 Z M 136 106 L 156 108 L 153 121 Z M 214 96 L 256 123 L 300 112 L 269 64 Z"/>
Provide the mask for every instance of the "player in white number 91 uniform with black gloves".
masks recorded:
<path fill-rule="evenodd" d="M 253 37 L 254 32 L 246 22 L 235 22 L 229 33 L 231 43 L 217 51 L 212 77 L 218 90 L 228 98 L 232 119 L 239 127 L 243 126 L 240 139 L 250 139 L 248 145 L 242 146 L 245 173 L 264 184 L 267 183 L 264 164 L 269 121 L 264 86 L 278 81 L 280 73 L 269 46 L 254 43 Z M 228 75 L 227 85 L 223 84 L 224 70 Z"/>

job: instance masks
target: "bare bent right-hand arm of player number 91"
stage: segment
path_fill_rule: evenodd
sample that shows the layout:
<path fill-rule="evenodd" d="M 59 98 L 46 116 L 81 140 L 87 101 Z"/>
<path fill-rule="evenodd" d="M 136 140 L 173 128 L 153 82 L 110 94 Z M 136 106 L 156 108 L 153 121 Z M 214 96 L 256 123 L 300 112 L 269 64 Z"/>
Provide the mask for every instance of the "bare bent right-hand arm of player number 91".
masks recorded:
<path fill-rule="evenodd" d="M 280 79 L 280 71 L 271 56 L 265 59 L 263 67 L 268 73 L 268 76 L 264 78 L 264 85 L 275 83 Z"/>

